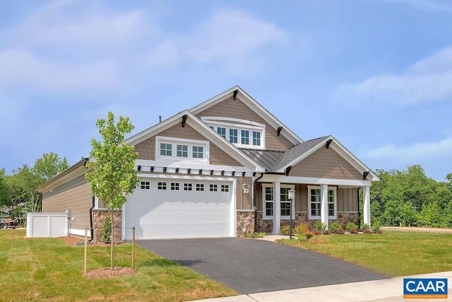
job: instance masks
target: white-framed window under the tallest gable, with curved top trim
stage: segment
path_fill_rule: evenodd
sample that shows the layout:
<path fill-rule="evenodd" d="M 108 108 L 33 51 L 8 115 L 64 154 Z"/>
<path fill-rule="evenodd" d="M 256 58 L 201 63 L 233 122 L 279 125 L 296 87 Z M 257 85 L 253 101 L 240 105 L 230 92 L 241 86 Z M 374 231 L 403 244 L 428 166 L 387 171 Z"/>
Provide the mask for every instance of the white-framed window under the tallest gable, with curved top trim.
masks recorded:
<path fill-rule="evenodd" d="M 201 117 L 201 120 L 239 148 L 265 149 L 265 124 L 231 117 Z"/>

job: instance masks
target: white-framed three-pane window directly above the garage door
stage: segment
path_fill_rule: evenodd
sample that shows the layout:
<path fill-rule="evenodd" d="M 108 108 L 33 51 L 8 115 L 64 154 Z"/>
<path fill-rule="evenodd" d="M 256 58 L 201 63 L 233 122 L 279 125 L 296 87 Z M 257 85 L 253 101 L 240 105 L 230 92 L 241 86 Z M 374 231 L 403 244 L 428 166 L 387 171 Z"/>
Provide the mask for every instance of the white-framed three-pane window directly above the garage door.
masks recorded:
<path fill-rule="evenodd" d="M 174 137 L 155 137 L 156 161 L 208 163 L 209 142 Z M 173 150 L 174 149 L 174 150 Z"/>

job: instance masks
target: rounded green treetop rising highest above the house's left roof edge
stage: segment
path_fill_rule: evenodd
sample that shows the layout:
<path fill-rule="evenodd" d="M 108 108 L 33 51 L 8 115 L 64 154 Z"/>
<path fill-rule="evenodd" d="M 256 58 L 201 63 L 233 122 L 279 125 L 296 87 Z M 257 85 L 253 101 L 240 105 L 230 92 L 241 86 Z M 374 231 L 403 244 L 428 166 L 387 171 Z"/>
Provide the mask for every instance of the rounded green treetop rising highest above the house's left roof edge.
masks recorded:
<path fill-rule="evenodd" d="M 57 153 L 44 153 L 33 165 L 33 170 L 44 182 L 47 182 L 69 168 L 66 158 L 61 158 Z"/>

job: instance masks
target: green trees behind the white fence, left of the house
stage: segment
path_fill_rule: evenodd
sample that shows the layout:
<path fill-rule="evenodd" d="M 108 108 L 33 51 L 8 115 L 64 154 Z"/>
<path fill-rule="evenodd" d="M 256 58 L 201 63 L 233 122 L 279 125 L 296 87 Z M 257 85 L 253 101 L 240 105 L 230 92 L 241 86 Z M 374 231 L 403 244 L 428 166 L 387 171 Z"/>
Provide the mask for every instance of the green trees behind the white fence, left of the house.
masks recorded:
<path fill-rule="evenodd" d="M 28 212 L 41 211 L 42 197 L 37 188 L 69 168 L 66 158 L 44 153 L 35 164 L 27 164 L 6 175 L 0 169 L 0 216 L 23 219 Z"/>

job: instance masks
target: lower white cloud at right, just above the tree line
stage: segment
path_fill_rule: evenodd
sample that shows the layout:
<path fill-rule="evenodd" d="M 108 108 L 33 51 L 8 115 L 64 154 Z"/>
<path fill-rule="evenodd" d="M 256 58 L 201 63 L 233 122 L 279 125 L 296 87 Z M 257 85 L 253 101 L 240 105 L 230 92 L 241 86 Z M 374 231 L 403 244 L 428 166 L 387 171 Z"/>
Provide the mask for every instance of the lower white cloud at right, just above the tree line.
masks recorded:
<path fill-rule="evenodd" d="M 360 153 L 371 159 L 413 164 L 430 158 L 445 158 L 452 154 L 452 138 L 442 141 L 415 143 L 409 146 L 387 144 L 376 149 L 362 149 Z"/>

